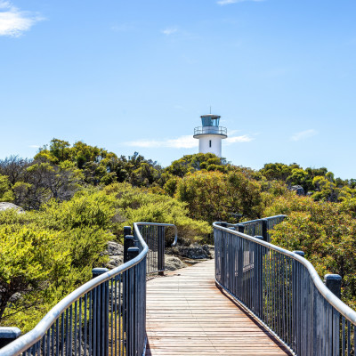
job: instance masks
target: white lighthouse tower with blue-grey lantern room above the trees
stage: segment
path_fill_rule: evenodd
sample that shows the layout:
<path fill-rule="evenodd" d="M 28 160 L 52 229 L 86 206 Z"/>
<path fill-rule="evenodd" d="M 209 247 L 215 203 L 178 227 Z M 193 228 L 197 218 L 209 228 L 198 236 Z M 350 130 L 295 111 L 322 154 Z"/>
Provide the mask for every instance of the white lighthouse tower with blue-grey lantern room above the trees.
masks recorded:
<path fill-rule="evenodd" d="M 219 126 L 220 117 L 208 114 L 201 116 L 201 125 L 194 129 L 194 138 L 199 140 L 199 153 L 214 153 L 222 157 L 222 140 L 228 137 L 226 127 Z"/>

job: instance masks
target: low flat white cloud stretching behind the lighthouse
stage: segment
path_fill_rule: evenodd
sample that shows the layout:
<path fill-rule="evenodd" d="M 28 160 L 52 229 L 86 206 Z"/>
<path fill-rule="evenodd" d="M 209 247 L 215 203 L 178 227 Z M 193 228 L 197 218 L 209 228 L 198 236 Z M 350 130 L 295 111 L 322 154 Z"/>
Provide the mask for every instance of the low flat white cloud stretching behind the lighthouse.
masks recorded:
<path fill-rule="evenodd" d="M 250 142 L 254 140 L 251 136 L 244 134 L 242 136 L 232 136 L 228 137 L 224 142 L 238 143 L 238 142 Z M 146 149 L 192 149 L 198 147 L 198 141 L 191 135 L 185 135 L 178 137 L 176 139 L 166 139 L 166 140 L 136 140 L 131 142 L 125 142 L 125 145 L 131 147 L 142 147 Z"/>

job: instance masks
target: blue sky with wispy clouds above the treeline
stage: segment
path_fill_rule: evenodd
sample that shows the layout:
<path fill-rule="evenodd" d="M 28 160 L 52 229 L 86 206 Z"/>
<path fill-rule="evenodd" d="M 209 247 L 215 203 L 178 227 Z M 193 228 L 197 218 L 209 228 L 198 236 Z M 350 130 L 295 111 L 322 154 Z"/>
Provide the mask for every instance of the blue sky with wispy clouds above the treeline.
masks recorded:
<path fill-rule="evenodd" d="M 167 166 L 222 116 L 235 165 L 356 178 L 354 0 L 0 0 L 0 158 L 53 137 Z"/>

